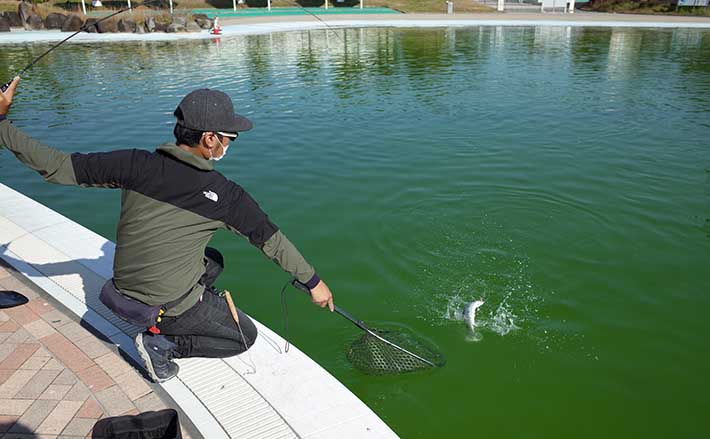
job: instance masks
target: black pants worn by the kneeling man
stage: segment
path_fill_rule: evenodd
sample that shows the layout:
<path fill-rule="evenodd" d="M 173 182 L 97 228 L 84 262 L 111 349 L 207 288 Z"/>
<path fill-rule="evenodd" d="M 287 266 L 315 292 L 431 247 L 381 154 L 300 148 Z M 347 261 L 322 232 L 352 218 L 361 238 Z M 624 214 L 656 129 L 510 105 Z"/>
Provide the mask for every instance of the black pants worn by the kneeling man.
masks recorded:
<path fill-rule="evenodd" d="M 176 317 L 163 317 L 157 325 L 160 333 L 177 344 L 176 358 L 224 358 L 241 354 L 256 341 L 254 322 L 237 309 L 241 332 L 224 297 L 212 292 L 212 285 L 224 269 L 224 259 L 217 250 L 205 250 L 205 274 L 200 283 L 205 286 L 202 298 Z M 242 338 L 242 333 L 244 338 Z"/>

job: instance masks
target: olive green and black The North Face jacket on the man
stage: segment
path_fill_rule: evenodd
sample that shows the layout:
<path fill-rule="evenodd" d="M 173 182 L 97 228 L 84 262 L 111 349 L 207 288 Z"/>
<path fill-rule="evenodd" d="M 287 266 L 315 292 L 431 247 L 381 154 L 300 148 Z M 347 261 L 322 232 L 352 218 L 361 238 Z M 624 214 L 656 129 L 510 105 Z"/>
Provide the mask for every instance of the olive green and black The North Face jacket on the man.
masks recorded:
<path fill-rule="evenodd" d="M 204 291 L 204 251 L 218 229 L 249 240 L 286 272 L 314 287 L 319 278 L 296 247 L 239 185 L 213 162 L 174 144 L 156 151 L 66 154 L 0 122 L 5 146 L 51 183 L 121 189 L 114 280 L 121 293 L 149 305 L 185 296 L 167 315 L 192 307 Z"/>

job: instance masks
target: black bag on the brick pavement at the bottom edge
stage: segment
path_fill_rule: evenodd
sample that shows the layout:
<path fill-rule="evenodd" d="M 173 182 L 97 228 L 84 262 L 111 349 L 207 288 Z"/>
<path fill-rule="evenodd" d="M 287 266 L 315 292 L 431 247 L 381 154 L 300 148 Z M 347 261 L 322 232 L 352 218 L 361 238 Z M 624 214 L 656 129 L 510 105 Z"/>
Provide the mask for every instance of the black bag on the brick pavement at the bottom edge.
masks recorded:
<path fill-rule="evenodd" d="M 103 439 L 182 439 L 182 434 L 177 412 L 173 409 L 165 409 L 134 416 L 104 418 L 96 423 L 91 437 Z"/>

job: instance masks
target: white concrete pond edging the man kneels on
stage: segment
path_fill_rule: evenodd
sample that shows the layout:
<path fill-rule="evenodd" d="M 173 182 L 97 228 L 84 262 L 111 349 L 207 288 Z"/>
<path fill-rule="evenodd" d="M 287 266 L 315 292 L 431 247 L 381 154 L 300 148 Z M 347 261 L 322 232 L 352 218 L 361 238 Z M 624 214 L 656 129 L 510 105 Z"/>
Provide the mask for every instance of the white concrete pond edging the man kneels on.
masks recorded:
<path fill-rule="evenodd" d="M 71 189 L 68 189 L 71 190 Z M 98 300 L 112 276 L 114 244 L 0 184 L 3 259 L 138 360 L 137 328 Z M 221 438 L 395 438 L 354 394 L 295 346 L 256 322 L 259 338 L 245 355 L 178 360 L 162 384 L 200 433 Z"/>

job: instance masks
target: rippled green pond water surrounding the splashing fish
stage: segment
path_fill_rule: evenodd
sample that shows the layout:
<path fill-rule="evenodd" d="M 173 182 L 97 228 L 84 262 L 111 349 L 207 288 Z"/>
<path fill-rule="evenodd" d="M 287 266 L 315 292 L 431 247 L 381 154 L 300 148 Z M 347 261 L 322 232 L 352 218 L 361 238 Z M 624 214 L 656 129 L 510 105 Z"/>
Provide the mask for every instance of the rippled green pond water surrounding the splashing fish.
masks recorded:
<path fill-rule="evenodd" d="M 68 45 L 12 117 L 63 151 L 152 149 L 187 92 L 228 92 L 256 128 L 218 169 L 337 304 L 446 355 L 364 375 L 356 328 L 290 293 L 291 341 L 402 437 L 708 437 L 710 31 L 337 34 Z M 3 47 L 1 76 L 46 47 Z M 44 183 L 7 152 L 0 175 L 114 238 L 117 191 Z M 287 276 L 227 232 L 213 244 L 219 285 L 283 333 Z"/>

